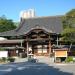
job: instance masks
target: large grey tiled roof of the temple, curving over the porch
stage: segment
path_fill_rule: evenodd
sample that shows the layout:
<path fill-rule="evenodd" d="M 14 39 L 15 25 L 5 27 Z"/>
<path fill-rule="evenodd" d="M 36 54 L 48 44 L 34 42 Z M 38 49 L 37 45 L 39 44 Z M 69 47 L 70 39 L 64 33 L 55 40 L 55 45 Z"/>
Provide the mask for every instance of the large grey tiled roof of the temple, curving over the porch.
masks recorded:
<path fill-rule="evenodd" d="M 60 34 L 63 30 L 61 17 L 62 16 L 48 16 L 24 19 L 20 22 L 20 26 L 17 29 L 0 33 L 0 36 L 24 35 L 30 30 L 37 28 L 37 26 L 47 32 Z"/>

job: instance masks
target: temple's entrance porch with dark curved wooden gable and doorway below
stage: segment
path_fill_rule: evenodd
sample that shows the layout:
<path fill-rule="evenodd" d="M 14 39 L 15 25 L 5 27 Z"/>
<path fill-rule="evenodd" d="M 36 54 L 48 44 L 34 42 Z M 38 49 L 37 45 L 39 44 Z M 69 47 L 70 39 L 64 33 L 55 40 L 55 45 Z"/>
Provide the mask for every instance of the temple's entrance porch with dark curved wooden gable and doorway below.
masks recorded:
<path fill-rule="evenodd" d="M 43 29 L 33 29 L 26 35 L 27 54 L 37 56 L 50 56 L 51 39 L 48 32 Z"/>

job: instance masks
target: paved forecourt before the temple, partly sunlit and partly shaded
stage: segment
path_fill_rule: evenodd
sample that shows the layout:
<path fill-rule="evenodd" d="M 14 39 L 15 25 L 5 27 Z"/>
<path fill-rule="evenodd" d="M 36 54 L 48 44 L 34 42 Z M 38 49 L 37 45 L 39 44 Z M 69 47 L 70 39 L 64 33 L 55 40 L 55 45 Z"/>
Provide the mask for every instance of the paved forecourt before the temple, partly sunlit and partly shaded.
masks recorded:
<path fill-rule="evenodd" d="M 0 75 L 75 75 L 75 64 L 56 64 L 48 57 L 37 57 L 38 63 L 27 58 L 17 59 L 14 63 L 1 64 Z"/>

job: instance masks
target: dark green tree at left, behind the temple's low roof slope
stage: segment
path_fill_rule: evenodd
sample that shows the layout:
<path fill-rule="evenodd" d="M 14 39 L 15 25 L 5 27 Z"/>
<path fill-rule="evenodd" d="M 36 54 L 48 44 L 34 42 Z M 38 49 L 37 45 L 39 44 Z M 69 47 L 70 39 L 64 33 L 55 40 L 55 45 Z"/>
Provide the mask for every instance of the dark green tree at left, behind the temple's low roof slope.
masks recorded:
<path fill-rule="evenodd" d="M 16 26 L 11 19 L 7 19 L 5 16 L 0 17 L 0 32 L 13 30 L 15 28 Z"/>

